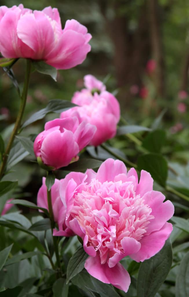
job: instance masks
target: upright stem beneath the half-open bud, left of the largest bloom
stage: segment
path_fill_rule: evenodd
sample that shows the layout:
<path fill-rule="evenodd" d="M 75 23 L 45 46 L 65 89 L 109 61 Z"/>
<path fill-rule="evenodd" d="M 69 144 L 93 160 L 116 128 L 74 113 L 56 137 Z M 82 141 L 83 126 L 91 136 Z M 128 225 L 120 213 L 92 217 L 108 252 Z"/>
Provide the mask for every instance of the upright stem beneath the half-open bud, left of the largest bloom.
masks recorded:
<path fill-rule="evenodd" d="M 57 267 L 58 267 L 58 270 L 59 270 L 58 273 L 57 273 L 57 278 L 59 278 L 59 277 L 61 277 L 61 275 L 60 275 L 61 263 L 60 263 L 60 257 L 59 257 L 59 252 L 58 252 L 57 237 L 53 236 L 53 229 L 55 227 L 55 221 L 54 221 L 54 215 L 53 215 L 53 210 L 52 210 L 51 190 L 48 191 L 48 189 L 47 189 L 47 201 L 48 201 L 48 208 L 49 208 L 49 217 L 50 217 L 50 220 L 51 220 L 52 239 L 53 239 L 53 244 L 54 244 L 54 248 L 55 248 Z"/>

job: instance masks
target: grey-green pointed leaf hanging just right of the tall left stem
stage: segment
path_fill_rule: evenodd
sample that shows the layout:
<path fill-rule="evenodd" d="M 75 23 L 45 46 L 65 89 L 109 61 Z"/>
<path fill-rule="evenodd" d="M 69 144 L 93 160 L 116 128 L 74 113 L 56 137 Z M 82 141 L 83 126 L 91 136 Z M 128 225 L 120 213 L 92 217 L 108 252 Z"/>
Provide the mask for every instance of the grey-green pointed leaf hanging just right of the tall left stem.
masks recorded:
<path fill-rule="evenodd" d="M 14 141 L 14 146 L 10 150 L 9 157 L 7 159 L 7 170 L 12 168 L 18 162 L 23 160 L 29 155 L 19 140 Z"/>

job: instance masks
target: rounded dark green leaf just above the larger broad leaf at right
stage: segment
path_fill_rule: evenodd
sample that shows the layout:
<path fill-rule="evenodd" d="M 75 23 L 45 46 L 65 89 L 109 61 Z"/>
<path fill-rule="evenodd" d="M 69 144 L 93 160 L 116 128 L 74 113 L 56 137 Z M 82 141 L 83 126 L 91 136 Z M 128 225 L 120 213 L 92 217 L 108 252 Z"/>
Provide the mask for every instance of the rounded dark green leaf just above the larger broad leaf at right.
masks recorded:
<path fill-rule="evenodd" d="M 166 133 L 164 130 L 150 132 L 143 140 L 142 146 L 153 153 L 160 153 L 165 143 Z"/>

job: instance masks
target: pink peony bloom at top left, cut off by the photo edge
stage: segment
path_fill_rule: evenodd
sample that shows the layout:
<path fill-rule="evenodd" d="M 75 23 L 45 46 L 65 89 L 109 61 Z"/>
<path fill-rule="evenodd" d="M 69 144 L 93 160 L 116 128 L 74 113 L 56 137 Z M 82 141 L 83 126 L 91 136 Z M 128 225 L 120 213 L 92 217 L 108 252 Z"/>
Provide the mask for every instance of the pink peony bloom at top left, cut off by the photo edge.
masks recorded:
<path fill-rule="evenodd" d="M 0 52 L 5 58 L 43 60 L 69 69 L 84 61 L 90 39 L 87 28 L 76 20 L 67 20 L 62 29 L 57 8 L 32 12 L 22 4 L 0 7 Z"/>

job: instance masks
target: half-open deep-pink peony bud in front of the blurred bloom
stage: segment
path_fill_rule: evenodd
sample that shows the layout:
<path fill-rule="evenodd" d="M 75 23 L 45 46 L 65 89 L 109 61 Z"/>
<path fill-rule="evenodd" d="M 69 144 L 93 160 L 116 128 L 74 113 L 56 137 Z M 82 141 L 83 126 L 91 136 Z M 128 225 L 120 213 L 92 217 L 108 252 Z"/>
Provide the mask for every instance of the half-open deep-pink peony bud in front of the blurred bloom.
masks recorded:
<path fill-rule="evenodd" d="M 37 158 L 54 169 L 67 166 L 92 139 L 96 127 L 76 116 L 55 119 L 45 124 L 45 130 L 35 139 L 33 149 Z M 38 160 L 39 160 L 38 159 Z"/>

